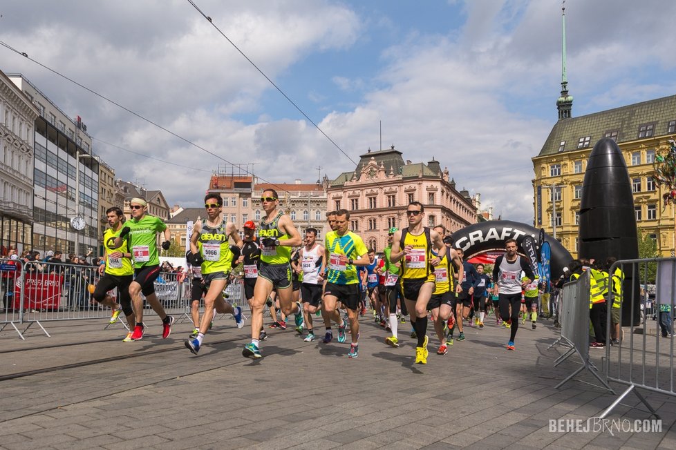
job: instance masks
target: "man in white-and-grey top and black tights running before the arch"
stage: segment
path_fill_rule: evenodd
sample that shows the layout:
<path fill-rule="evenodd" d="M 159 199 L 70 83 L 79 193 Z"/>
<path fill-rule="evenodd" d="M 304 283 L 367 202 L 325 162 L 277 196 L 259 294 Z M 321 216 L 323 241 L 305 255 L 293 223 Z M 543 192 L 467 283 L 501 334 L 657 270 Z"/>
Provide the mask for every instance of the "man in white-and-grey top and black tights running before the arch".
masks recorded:
<path fill-rule="evenodd" d="M 530 263 L 516 254 L 516 240 L 505 241 L 505 255 L 500 255 L 493 266 L 493 279 L 496 280 L 498 289 L 498 304 L 500 317 L 509 325 L 509 342 L 507 350 L 514 350 L 514 339 L 518 330 L 518 313 L 521 303 L 521 289 L 524 288 L 534 277 Z M 520 273 L 524 271 L 525 280 L 520 280 Z M 511 306 L 511 315 L 509 308 Z"/>

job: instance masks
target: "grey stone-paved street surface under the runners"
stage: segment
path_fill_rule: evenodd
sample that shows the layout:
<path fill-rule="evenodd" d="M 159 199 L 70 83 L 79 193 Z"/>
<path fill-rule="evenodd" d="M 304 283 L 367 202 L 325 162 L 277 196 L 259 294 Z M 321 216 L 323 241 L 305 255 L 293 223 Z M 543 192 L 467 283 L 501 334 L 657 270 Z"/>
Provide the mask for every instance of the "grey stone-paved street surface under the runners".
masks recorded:
<path fill-rule="evenodd" d="M 259 361 L 241 356 L 248 324 L 219 320 L 196 357 L 183 346 L 190 324 L 162 340 L 148 318 L 146 337 L 131 343 L 120 324 L 104 330 L 100 320 L 47 323 L 52 337 L 31 329 L 26 341 L 5 329 L 0 449 L 676 448 L 676 401 L 656 394 L 646 395 L 663 419 L 659 433 L 550 431 L 550 420 L 586 420 L 617 395 L 578 381 L 590 375 L 554 389 L 576 364 L 552 367 L 562 351 L 546 351 L 558 335 L 547 321 L 521 326 L 516 351 L 490 320 L 465 326 L 467 340 L 447 355 L 435 354 L 430 326 L 428 364 L 414 365 L 410 325 L 392 349 L 370 316 L 356 360 L 349 343 L 303 342 L 290 327 L 270 332 Z M 610 415 L 648 418 L 622 406 Z"/>

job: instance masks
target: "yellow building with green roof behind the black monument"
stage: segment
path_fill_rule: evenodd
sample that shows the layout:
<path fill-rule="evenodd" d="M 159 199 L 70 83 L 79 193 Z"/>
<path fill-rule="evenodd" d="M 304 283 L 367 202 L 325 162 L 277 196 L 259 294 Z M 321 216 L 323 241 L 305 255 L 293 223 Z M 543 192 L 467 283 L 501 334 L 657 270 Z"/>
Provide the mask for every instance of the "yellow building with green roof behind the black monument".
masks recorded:
<path fill-rule="evenodd" d="M 564 79 L 565 81 L 565 79 Z M 563 86 L 562 84 L 562 87 Z M 561 101 L 561 99 L 570 101 Z M 534 224 L 556 235 L 573 257 L 579 249 L 578 223 L 587 159 L 599 139 L 617 142 L 627 164 L 638 228 L 657 241 L 660 256 L 675 248 L 673 204 L 664 206 L 667 192 L 652 178 L 655 157 L 669 151 L 676 138 L 676 95 L 622 106 L 582 117 L 571 117 L 572 97 L 557 102 L 559 120 L 539 155 L 534 157 Z M 552 195 L 555 202 L 552 202 Z"/>

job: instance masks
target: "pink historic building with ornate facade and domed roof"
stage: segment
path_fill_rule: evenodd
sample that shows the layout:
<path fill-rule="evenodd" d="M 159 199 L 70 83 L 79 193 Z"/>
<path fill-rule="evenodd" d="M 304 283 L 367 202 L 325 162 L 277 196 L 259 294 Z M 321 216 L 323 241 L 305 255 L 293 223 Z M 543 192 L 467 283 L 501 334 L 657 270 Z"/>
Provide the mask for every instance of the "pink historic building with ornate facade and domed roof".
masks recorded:
<path fill-rule="evenodd" d="M 327 210 L 350 211 L 350 229 L 369 248 L 382 251 L 389 228 L 407 226 L 406 206 L 425 206 L 426 226 L 442 224 L 453 232 L 477 222 L 478 194 L 456 190 L 449 170 L 432 159 L 404 161 L 394 146 L 360 155 L 355 172 L 341 173 L 328 187 Z"/>

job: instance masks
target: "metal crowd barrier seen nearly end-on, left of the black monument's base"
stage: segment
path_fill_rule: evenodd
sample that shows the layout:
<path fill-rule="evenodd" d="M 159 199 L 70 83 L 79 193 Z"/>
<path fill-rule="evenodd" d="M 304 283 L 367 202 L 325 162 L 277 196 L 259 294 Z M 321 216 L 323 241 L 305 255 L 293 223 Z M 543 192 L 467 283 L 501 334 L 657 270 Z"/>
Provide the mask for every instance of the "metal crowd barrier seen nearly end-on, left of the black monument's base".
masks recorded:
<path fill-rule="evenodd" d="M 605 389 L 614 393 L 610 385 L 599 375 L 597 367 L 589 359 L 589 289 L 590 274 L 588 271 L 584 271 L 577 280 L 563 285 L 563 301 L 561 311 L 559 311 L 561 336 L 549 348 L 557 344 L 567 348 L 567 351 L 554 361 L 555 367 L 572 355 L 579 356 L 581 365 L 562 382 L 558 383 L 556 389 L 561 388 L 563 384 L 586 369 L 603 384 Z"/>

